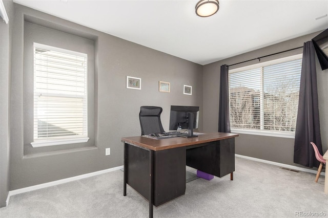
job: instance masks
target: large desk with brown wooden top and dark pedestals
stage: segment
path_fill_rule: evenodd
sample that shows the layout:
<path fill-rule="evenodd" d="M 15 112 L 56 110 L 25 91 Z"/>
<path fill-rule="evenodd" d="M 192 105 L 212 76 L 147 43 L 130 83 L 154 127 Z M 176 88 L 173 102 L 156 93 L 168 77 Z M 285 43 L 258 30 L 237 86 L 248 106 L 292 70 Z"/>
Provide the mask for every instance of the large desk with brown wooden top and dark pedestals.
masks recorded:
<path fill-rule="evenodd" d="M 124 196 L 127 184 L 153 205 L 169 202 L 186 191 L 186 165 L 217 177 L 235 171 L 235 137 L 238 134 L 201 134 L 194 138 L 151 139 L 123 137 Z"/>

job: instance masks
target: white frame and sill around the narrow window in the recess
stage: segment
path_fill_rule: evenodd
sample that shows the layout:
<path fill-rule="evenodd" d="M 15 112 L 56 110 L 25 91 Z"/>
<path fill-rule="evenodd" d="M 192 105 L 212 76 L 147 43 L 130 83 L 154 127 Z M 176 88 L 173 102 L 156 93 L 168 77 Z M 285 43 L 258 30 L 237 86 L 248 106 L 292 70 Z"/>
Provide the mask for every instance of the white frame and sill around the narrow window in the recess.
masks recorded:
<path fill-rule="evenodd" d="M 83 124 L 83 128 L 85 129 L 85 135 L 82 136 L 69 136 L 69 137 L 54 137 L 54 138 L 41 138 L 41 139 L 35 139 L 35 133 L 34 133 L 34 127 L 33 127 L 33 142 L 31 142 L 31 145 L 33 147 L 45 147 L 45 146 L 53 146 L 53 145 L 65 145 L 65 144 L 74 144 L 74 143 L 85 143 L 88 142 L 88 140 L 90 139 L 88 137 L 88 54 L 86 53 L 81 53 L 81 52 L 76 52 L 76 51 L 72 51 L 72 50 L 67 50 L 67 49 L 62 49 L 62 48 L 58 48 L 58 47 L 53 47 L 53 46 L 48 46 L 48 45 L 44 45 L 41 43 L 37 43 L 37 42 L 33 42 L 33 66 L 35 64 L 35 50 L 34 48 L 40 48 L 40 49 L 46 49 L 46 50 L 51 50 L 51 51 L 55 51 L 55 52 L 61 52 L 61 53 L 65 53 L 65 54 L 69 54 L 69 55 L 76 55 L 76 56 L 81 56 L 81 57 L 85 57 L 86 58 L 86 81 L 85 81 L 85 102 L 86 102 L 86 110 L 85 110 L 85 124 Z M 35 69 L 33 67 L 33 78 L 35 77 Z M 35 90 L 34 90 L 34 80 L 33 79 L 33 96 L 35 94 Z M 34 103 L 33 103 L 34 104 Z M 34 111 L 34 107 L 33 107 L 33 114 L 35 113 Z M 34 116 L 33 116 L 34 117 Z M 34 123 L 34 118 L 33 118 L 33 126 L 35 125 Z"/>

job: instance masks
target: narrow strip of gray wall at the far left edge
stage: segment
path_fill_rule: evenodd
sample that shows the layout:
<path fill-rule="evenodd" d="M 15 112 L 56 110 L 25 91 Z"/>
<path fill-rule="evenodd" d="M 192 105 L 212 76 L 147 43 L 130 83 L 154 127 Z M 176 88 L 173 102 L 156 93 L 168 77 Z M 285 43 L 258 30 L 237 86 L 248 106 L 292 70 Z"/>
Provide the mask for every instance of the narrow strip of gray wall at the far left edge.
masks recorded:
<path fill-rule="evenodd" d="M 12 1 L 3 1 L 9 23 L 0 18 L 0 207 L 6 206 L 9 192 L 10 83 L 12 45 Z"/>

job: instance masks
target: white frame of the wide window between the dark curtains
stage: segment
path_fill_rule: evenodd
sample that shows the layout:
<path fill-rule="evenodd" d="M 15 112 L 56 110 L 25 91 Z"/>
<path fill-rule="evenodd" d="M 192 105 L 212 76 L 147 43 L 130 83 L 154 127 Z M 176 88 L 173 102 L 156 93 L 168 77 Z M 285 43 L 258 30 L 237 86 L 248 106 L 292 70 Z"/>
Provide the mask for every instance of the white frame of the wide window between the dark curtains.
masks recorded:
<path fill-rule="evenodd" d="M 252 65 L 245 66 L 245 67 L 231 69 L 231 70 L 229 70 L 229 74 L 241 72 L 241 71 L 248 71 L 248 70 L 252 70 L 252 69 L 256 69 L 256 68 L 267 67 L 267 66 L 270 66 L 273 64 L 293 61 L 293 60 L 297 60 L 297 59 L 302 59 L 302 54 L 292 55 L 292 56 L 283 57 L 283 58 L 277 58 L 274 60 L 256 63 L 256 64 L 252 64 Z M 229 90 L 230 90 L 230 85 L 229 85 Z M 262 102 L 262 104 L 263 104 L 262 106 L 264 106 L 263 102 Z M 229 111 L 230 111 L 230 97 L 229 97 Z M 263 111 L 263 110 L 261 110 L 261 111 Z M 260 116 L 260 119 L 262 119 L 262 117 L 263 116 Z M 239 129 L 239 128 L 231 128 L 231 132 L 237 133 L 237 134 L 248 134 L 248 135 L 258 135 L 258 136 L 270 136 L 270 137 L 291 138 L 291 139 L 295 138 L 295 132 L 283 132 L 283 131 L 262 130 L 262 129 Z"/>

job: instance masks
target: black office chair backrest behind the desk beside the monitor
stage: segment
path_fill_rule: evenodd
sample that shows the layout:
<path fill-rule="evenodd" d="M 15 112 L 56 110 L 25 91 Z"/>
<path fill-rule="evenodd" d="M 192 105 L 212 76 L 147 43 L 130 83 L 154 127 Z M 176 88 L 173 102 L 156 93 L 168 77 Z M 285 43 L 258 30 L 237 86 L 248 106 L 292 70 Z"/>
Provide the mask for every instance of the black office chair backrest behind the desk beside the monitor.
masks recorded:
<path fill-rule="evenodd" d="M 165 132 L 160 121 L 163 109 L 156 106 L 141 106 L 139 113 L 141 135 Z"/>

